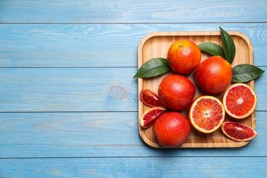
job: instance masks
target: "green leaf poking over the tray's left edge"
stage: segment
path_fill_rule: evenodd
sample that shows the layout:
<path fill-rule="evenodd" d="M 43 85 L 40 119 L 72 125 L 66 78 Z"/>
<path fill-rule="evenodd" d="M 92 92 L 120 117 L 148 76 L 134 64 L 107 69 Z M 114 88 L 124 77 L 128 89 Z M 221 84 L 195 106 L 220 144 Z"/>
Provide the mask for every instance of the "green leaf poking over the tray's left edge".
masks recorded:
<path fill-rule="evenodd" d="M 152 58 L 140 66 L 133 78 L 148 78 L 161 75 L 170 70 L 168 61 L 164 58 Z"/>

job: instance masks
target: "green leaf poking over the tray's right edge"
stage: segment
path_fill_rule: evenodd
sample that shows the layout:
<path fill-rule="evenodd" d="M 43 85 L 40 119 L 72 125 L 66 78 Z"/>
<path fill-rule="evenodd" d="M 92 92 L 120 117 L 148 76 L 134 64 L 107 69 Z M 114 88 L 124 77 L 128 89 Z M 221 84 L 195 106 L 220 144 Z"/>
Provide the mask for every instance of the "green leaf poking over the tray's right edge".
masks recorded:
<path fill-rule="evenodd" d="M 265 71 L 257 66 L 253 66 L 251 64 L 240 64 L 233 67 L 232 82 L 238 83 L 251 81 L 262 75 L 264 72 Z"/>

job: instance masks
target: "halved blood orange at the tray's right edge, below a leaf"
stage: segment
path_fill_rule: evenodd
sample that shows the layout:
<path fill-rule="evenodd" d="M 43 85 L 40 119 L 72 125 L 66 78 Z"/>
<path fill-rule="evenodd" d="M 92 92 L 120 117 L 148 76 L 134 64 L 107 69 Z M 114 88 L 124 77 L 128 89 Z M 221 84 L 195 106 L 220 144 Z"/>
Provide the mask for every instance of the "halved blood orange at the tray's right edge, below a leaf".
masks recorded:
<path fill-rule="evenodd" d="M 257 96 L 254 90 L 242 83 L 233 84 L 223 95 L 225 112 L 233 118 L 246 118 L 251 115 L 257 105 Z"/>

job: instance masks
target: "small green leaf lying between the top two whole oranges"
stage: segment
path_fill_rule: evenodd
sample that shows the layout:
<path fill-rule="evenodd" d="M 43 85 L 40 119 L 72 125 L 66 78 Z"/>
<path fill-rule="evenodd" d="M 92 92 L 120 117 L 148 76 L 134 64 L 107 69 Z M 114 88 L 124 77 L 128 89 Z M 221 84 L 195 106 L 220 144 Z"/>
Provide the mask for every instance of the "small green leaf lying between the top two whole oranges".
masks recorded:
<path fill-rule="evenodd" d="M 220 47 L 220 45 L 214 42 L 203 42 L 199 44 L 199 49 L 211 55 L 220 55 L 220 57 L 225 59 L 225 51 L 223 51 L 223 48 Z"/>

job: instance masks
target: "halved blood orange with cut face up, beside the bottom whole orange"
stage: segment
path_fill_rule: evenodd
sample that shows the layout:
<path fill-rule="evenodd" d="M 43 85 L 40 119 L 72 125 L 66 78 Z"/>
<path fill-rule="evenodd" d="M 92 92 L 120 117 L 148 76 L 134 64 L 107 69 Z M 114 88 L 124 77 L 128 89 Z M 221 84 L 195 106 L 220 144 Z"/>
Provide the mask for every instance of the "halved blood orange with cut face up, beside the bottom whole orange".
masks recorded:
<path fill-rule="evenodd" d="M 194 129 L 203 133 L 216 131 L 225 120 L 225 109 L 219 99 L 212 96 L 201 96 L 192 102 L 188 118 Z"/>

